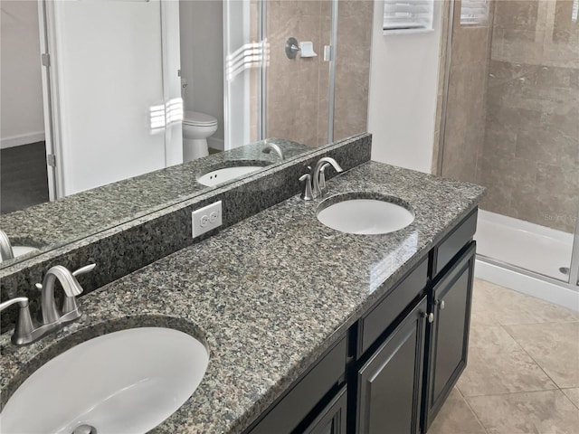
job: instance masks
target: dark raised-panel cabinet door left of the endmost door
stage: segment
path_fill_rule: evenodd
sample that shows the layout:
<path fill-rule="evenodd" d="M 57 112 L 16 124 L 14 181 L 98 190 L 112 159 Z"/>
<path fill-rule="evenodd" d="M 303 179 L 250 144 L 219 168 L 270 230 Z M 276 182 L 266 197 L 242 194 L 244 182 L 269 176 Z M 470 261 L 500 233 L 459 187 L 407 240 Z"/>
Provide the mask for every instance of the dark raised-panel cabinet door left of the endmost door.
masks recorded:
<path fill-rule="evenodd" d="M 358 371 L 359 434 L 414 434 L 420 429 L 426 297 Z"/>

